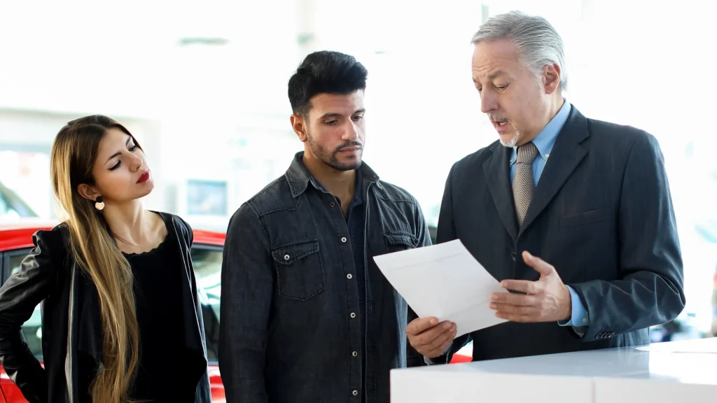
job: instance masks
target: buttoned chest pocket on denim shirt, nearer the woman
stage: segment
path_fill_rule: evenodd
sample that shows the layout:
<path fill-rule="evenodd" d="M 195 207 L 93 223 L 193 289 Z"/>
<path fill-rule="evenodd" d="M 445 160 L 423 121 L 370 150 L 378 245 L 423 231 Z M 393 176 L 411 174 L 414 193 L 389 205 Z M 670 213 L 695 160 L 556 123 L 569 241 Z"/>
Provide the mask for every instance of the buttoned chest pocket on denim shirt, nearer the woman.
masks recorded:
<path fill-rule="evenodd" d="M 305 301 L 326 288 L 318 240 L 303 240 L 272 249 L 279 295 Z"/>

